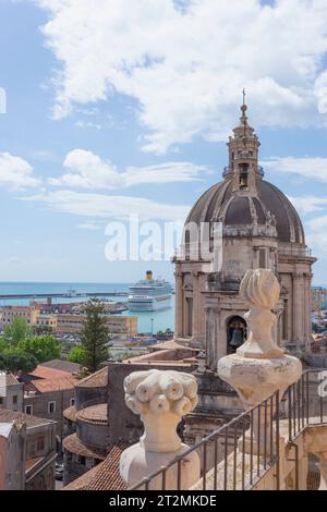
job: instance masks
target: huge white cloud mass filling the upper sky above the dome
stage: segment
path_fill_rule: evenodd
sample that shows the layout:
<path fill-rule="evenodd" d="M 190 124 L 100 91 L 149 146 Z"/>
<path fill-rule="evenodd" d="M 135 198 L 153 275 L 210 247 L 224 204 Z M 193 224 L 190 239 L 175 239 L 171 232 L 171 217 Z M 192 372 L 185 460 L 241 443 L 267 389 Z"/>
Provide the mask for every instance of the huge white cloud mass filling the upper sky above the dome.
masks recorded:
<path fill-rule="evenodd" d="M 225 139 L 245 86 L 256 125 L 326 125 L 326 0 L 34 1 L 61 63 L 56 118 L 128 95 L 144 149 L 162 153 L 195 135 Z"/>

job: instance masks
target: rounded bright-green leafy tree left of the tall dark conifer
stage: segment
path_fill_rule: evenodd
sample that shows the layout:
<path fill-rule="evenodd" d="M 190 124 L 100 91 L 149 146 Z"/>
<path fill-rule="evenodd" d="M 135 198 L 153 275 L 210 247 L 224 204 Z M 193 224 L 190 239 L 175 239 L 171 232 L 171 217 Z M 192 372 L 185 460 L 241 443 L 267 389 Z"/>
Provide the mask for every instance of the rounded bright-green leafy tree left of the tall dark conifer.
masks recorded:
<path fill-rule="evenodd" d="M 20 341 L 17 351 L 32 354 L 38 363 L 45 363 L 60 357 L 61 344 L 52 336 L 34 336 Z"/>

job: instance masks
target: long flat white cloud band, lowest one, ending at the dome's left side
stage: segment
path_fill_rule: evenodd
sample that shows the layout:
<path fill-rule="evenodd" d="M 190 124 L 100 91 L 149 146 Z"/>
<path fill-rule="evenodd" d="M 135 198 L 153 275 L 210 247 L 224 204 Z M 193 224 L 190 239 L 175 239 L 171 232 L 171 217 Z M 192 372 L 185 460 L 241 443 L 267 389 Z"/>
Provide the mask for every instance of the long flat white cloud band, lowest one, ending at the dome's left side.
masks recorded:
<path fill-rule="evenodd" d="M 53 210 L 81 217 L 126 219 L 137 215 L 141 220 L 161 219 L 168 221 L 184 220 L 190 206 L 156 203 L 144 197 L 110 196 L 105 194 L 57 191 L 40 193 L 23 198 L 47 205 Z"/>

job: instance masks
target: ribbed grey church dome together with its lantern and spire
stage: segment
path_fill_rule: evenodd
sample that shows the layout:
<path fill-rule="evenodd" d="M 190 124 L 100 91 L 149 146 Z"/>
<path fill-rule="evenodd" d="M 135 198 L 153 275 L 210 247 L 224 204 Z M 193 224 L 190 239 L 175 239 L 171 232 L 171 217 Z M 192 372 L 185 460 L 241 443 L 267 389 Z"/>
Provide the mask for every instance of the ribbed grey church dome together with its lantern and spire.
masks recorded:
<path fill-rule="evenodd" d="M 203 194 L 186 223 L 221 221 L 232 236 L 239 232 L 266 233 L 282 243 L 305 244 L 295 208 L 279 188 L 263 180 L 264 172 L 258 166 L 261 143 L 247 123 L 244 101 L 241 112 L 240 123 L 229 137 L 229 166 L 223 181 Z"/>

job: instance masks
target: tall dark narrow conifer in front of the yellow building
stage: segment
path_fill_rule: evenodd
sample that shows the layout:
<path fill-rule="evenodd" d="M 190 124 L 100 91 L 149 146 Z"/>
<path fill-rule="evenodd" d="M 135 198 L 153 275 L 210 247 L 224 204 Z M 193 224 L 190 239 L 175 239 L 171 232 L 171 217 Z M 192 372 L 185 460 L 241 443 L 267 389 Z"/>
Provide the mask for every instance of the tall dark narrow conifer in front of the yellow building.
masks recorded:
<path fill-rule="evenodd" d="M 84 365 L 93 373 L 109 357 L 107 345 L 110 336 L 106 326 L 105 306 L 100 301 L 90 300 L 84 306 L 83 313 L 86 316 L 81 337 L 85 353 Z"/>

